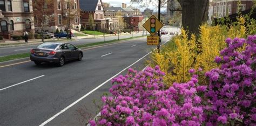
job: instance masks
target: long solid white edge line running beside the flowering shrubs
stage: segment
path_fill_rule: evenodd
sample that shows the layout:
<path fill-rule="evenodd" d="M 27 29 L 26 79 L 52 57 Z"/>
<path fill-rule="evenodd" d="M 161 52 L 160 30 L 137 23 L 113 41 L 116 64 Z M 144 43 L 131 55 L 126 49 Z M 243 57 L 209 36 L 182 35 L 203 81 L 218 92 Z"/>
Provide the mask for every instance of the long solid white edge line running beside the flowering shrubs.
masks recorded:
<path fill-rule="evenodd" d="M 168 40 L 167 40 L 168 41 Z M 167 41 L 165 43 L 167 43 Z M 164 43 L 164 44 L 165 44 Z M 71 108 L 72 106 L 74 106 L 76 103 L 78 103 L 79 101 L 83 100 L 85 97 L 87 97 L 88 95 L 90 95 L 91 93 L 95 92 L 95 90 L 99 89 L 100 87 L 102 87 L 103 85 L 105 85 L 105 83 L 109 82 L 110 80 L 112 80 L 114 77 L 116 77 L 117 75 L 119 75 L 120 73 L 124 72 L 126 69 L 130 68 L 131 66 L 133 66 L 134 64 L 136 64 L 137 62 L 139 62 L 140 60 L 142 60 L 143 58 L 145 58 L 147 55 L 149 55 L 151 52 L 147 53 L 146 55 L 144 55 L 142 58 L 140 58 L 139 60 L 137 60 L 136 62 L 134 62 L 133 64 L 131 64 L 130 66 L 127 66 L 126 68 L 124 68 L 122 71 L 120 71 L 119 73 L 117 73 L 116 75 L 112 76 L 110 79 L 106 80 L 105 82 L 103 82 L 102 84 L 100 84 L 98 87 L 92 89 L 89 93 L 85 94 L 84 96 L 80 97 L 78 100 L 76 100 L 75 102 L 71 103 L 68 107 L 62 109 L 61 111 L 59 111 L 59 113 L 53 115 L 51 118 L 49 118 L 48 120 L 44 121 L 42 124 L 40 125 L 46 125 L 47 123 L 49 123 L 50 121 L 52 121 L 54 118 L 56 118 L 57 116 L 59 116 L 60 114 L 64 113 L 66 110 L 68 110 L 69 108 Z"/>

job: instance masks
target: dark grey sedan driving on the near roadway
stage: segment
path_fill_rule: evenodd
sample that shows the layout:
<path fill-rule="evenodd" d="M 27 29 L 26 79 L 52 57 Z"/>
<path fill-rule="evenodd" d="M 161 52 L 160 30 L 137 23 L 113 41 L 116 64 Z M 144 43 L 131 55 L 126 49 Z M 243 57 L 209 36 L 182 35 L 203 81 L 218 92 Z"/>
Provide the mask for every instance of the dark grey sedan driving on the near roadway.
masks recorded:
<path fill-rule="evenodd" d="M 69 43 L 43 43 L 30 51 L 30 60 L 36 65 L 54 62 L 63 66 L 65 61 L 82 60 L 83 51 Z"/>

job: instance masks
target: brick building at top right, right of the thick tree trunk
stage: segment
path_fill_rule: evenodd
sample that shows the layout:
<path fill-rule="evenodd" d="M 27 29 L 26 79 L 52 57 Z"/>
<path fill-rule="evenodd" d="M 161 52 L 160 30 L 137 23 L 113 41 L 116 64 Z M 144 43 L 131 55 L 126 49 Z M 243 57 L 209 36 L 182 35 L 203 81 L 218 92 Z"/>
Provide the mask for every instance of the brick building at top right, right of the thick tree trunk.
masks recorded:
<path fill-rule="evenodd" d="M 245 11 L 251 9 L 254 0 L 215 0 L 212 2 L 213 6 L 213 18 L 225 17 L 237 13 L 239 11 Z"/>

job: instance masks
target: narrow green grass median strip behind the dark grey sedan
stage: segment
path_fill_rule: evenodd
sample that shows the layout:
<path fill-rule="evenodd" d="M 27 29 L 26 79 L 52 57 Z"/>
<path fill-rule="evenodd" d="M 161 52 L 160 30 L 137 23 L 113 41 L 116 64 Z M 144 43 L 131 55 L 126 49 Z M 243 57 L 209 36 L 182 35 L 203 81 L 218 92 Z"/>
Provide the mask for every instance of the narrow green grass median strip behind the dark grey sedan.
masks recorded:
<path fill-rule="evenodd" d="M 138 37 L 133 37 L 133 38 L 140 38 L 140 37 L 143 37 L 143 36 L 138 36 Z M 98 43 L 78 45 L 77 47 L 78 48 L 83 48 L 83 47 L 89 47 L 89 46 L 95 46 L 95 45 L 102 45 L 102 44 L 106 44 L 106 43 L 114 43 L 114 42 L 117 42 L 117 41 L 133 39 L 133 38 L 124 38 L 124 39 L 119 39 L 119 40 L 114 39 L 114 40 L 105 41 L 105 42 L 100 41 Z M 4 57 L 0 57 L 0 62 L 15 60 L 15 59 L 21 59 L 21 58 L 27 58 L 27 57 L 30 57 L 30 53 L 19 53 L 19 54 L 7 55 L 7 56 L 4 56 Z"/>

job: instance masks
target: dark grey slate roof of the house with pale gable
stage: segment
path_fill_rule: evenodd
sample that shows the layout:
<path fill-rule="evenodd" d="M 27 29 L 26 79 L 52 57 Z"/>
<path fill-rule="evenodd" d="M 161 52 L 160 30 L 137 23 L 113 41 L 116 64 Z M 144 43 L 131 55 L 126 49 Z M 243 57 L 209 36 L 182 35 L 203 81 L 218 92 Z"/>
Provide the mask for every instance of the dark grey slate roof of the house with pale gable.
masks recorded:
<path fill-rule="evenodd" d="M 80 9 L 83 11 L 95 11 L 98 1 L 102 3 L 102 0 L 79 0 Z M 103 10 L 105 10 L 104 6 Z"/>

